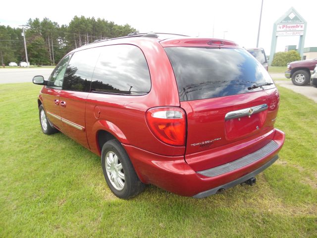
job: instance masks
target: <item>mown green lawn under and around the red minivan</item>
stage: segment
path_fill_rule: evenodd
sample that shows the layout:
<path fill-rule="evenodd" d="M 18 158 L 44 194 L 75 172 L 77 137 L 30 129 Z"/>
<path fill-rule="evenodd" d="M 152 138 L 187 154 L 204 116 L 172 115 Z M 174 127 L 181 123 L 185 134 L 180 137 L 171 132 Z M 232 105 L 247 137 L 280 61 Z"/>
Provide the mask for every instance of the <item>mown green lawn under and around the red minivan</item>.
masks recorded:
<path fill-rule="evenodd" d="M 282 87 L 280 159 L 204 199 L 106 185 L 100 158 L 38 119 L 40 86 L 0 85 L 0 237 L 317 237 L 317 104 Z"/>

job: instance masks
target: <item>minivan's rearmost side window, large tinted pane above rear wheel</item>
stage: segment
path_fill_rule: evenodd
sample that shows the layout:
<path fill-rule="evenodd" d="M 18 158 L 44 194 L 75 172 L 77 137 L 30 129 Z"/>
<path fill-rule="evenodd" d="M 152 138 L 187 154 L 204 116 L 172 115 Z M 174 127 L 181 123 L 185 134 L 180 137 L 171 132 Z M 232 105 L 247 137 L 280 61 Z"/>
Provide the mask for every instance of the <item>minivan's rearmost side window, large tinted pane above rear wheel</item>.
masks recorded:
<path fill-rule="evenodd" d="M 91 92 L 144 95 L 150 90 L 149 67 L 138 47 L 102 47 L 91 83 Z"/>

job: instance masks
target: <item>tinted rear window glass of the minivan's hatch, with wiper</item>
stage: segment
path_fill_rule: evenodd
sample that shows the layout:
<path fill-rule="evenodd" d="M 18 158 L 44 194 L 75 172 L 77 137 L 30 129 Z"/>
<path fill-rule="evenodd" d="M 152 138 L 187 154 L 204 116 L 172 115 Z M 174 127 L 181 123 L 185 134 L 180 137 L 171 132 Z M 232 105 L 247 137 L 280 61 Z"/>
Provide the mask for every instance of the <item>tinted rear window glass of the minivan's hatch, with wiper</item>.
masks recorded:
<path fill-rule="evenodd" d="M 164 50 L 174 70 L 180 101 L 275 87 L 264 67 L 244 49 L 167 47 Z M 254 87 L 257 84 L 264 86 Z"/>

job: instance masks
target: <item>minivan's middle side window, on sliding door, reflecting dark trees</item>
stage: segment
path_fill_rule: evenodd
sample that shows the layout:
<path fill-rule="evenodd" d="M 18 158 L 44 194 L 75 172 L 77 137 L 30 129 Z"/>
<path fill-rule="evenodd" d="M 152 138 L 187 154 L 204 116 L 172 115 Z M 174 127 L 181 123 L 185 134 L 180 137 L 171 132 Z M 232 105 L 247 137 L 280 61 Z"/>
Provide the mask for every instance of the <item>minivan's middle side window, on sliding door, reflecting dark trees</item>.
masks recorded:
<path fill-rule="evenodd" d="M 65 71 L 63 90 L 89 92 L 91 78 L 99 55 L 100 48 L 75 52 Z"/>

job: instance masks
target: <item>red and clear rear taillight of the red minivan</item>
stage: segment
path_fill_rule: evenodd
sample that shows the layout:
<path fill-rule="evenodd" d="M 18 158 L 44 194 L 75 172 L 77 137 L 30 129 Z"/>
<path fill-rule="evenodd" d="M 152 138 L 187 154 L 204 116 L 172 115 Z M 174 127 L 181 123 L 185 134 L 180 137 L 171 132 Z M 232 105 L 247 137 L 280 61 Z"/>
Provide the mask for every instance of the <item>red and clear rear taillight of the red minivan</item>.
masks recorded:
<path fill-rule="evenodd" d="M 186 116 L 180 108 L 159 107 L 146 113 L 147 123 L 153 134 L 162 142 L 184 146 L 186 135 Z"/>

